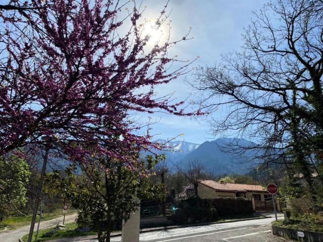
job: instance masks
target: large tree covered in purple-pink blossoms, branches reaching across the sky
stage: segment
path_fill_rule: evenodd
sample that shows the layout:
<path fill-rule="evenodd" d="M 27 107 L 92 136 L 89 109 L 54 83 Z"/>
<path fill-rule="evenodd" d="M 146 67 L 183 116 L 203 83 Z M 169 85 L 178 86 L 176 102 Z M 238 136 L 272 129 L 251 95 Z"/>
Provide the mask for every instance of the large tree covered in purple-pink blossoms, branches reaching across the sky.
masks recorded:
<path fill-rule="evenodd" d="M 134 4 L 120 18 L 123 8 L 119 1 L 102 0 L 0 5 L 0 154 L 54 137 L 70 159 L 80 161 L 89 150 L 84 147 L 92 147 L 91 154 L 94 149 L 119 156 L 123 152 L 100 144 L 111 145 L 115 134 L 123 149 L 150 144 L 148 135 L 134 134 L 139 127 L 127 118 L 129 112 L 184 115 L 181 102 L 154 98 L 156 85 L 187 71 L 184 63 L 168 72 L 178 62 L 168 49 L 179 41 L 149 49 L 138 24 L 142 13 Z M 156 25 L 166 18 L 163 10 Z"/>

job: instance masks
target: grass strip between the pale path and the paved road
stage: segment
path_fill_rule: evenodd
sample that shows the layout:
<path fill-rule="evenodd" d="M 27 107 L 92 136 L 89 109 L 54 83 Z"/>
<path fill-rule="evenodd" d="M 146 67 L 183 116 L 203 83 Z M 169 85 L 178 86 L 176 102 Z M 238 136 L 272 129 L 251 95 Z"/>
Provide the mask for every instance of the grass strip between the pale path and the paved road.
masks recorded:
<path fill-rule="evenodd" d="M 65 224 L 66 227 L 64 230 L 58 230 L 56 233 L 54 233 L 51 236 L 45 236 L 44 233 L 51 231 L 52 229 L 56 228 L 56 227 L 51 227 L 51 228 L 45 228 L 45 229 L 40 229 L 38 231 L 38 237 L 36 241 L 46 241 L 46 240 L 51 240 L 51 239 L 59 239 L 59 238 L 66 238 L 66 237 L 75 237 L 75 236 L 85 236 L 85 235 L 94 235 L 97 234 L 96 231 L 88 231 L 88 232 L 79 232 L 77 231 L 77 223 L 73 222 L 73 223 L 67 223 Z M 35 241 L 35 234 L 36 232 L 33 232 L 32 235 L 32 242 L 36 242 Z M 28 239 L 28 234 L 24 235 L 22 237 L 23 241 L 27 241 Z"/>

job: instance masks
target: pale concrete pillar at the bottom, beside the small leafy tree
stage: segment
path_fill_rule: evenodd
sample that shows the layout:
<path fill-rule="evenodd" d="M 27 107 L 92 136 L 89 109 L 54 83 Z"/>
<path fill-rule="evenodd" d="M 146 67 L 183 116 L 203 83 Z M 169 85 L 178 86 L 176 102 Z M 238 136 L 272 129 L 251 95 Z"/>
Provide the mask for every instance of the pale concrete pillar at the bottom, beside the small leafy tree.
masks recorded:
<path fill-rule="evenodd" d="M 139 230 L 140 230 L 140 205 L 138 210 L 130 214 L 130 218 L 127 222 L 122 221 L 122 242 L 139 242 Z"/>

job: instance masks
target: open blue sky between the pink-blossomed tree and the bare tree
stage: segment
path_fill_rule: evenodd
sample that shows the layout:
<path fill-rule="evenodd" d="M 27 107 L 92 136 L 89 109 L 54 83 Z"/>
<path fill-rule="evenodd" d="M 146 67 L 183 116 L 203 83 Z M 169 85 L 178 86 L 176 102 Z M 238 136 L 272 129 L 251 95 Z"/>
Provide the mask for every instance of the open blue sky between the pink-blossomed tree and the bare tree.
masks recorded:
<path fill-rule="evenodd" d="M 144 0 L 146 6 L 144 17 L 147 19 L 157 16 L 163 9 L 166 1 Z M 172 51 L 181 59 L 200 58 L 192 65 L 212 66 L 219 63 L 221 54 L 226 54 L 233 50 L 239 50 L 243 44 L 243 28 L 247 27 L 252 18 L 252 11 L 259 10 L 266 1 L 261 0 L 171 0 L 167 12 L 171 12 L 172 20 L 171 37 L 181 38 L 187 33 L 190 27 L 192 40 L 181 42 Z M 188 74 L 174 82 L 157 88 L 159 95 L 174 92 L 177 100 L 196 99 L 197 94 L 186 83 L 192 79 Z M 225 108 L 219 109 L 212 114 L 213 118 L 223 115 Z M 184 133 L 179 140 L 185 139 L 188 142 L 202 143 L 212 140 L 208 120 L 198 118 L 194 120 L 190 117 L 178 117 L 164 113 L 154 113 L 143 115 L 141 122 L 145 122 L 147 117 L 157 122 L 152 126 L 152 134 L 155 139 L 171 139 Z"/>

